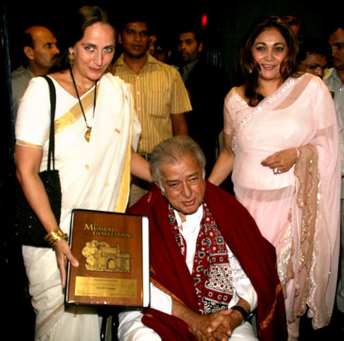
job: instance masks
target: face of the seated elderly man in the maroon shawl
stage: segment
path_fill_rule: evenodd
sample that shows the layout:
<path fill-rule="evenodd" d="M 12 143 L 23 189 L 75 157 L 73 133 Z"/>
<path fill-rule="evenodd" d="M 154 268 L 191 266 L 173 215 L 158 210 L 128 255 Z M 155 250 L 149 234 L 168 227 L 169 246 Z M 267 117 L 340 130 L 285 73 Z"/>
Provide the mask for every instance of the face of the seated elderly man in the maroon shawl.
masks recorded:
<path fill-rule="evenodd" d="M 175 210 L 192 214 L 203 202 L 205 181 L 203 171 L 193 155 L 185 156 L 181 162 L 160 167 L 162 194 Z"/>

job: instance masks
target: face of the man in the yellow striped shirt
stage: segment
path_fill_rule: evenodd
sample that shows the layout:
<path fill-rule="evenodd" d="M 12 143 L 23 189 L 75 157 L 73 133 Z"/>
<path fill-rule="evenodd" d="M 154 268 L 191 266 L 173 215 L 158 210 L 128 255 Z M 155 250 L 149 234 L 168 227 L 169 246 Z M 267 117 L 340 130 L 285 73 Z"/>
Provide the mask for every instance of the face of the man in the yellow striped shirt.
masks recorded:
<path fill-rule="evenodd" d="M 143 22 L 128 23 L 120 37 L 125 53 L 134 58 L 144 56 L 148 49 L 148 26 Z"/>

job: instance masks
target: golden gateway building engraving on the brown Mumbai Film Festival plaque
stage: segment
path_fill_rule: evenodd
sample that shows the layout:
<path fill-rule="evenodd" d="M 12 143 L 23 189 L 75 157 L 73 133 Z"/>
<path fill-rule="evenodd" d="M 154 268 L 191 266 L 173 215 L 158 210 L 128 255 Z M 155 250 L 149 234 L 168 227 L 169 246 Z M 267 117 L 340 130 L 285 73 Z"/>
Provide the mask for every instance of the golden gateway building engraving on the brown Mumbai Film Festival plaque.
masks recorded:
<path fill-rule="evenodd" d="M 120 243 L 113 248 L 103 241 L 91 240 L 81 253 L 86 258 L 86 270 L 130 273 L 131 254 L 121 252 Z"/>

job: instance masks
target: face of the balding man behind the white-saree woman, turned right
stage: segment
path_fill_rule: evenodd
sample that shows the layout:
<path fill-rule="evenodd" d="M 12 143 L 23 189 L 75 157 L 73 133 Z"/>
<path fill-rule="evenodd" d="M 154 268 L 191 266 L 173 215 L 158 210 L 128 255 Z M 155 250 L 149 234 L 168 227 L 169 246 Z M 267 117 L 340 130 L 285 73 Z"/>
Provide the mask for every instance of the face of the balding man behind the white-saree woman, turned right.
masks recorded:
<path fill-rule="evenodd" d="M 34 46 L 32 60 L 41 67 L 50 68 L 60 53 L 56 46 L 56 38 L 45 27 L 35 29 L 31 35 Z"/>

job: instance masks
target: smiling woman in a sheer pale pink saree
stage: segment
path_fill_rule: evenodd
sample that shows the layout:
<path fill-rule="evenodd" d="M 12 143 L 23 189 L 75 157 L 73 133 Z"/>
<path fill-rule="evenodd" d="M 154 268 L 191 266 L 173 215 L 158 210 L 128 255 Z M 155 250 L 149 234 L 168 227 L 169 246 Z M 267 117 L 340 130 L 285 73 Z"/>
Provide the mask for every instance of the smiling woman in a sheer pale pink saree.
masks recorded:
<path fill-rule="evenodd" d="M 233 170 L 237 199 L 276 248 L 290 340 L 307 308 L 314 329 L 330 322 L 340 214 L 333 101 L 319 77 L 297 73 L 296 54 L 276 16 L 250 32 L 239 56 L 245 84 L 225 98 L 225 147 L 209 177 L 219 185 Z"/>

